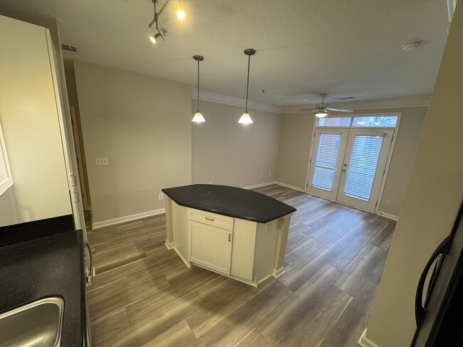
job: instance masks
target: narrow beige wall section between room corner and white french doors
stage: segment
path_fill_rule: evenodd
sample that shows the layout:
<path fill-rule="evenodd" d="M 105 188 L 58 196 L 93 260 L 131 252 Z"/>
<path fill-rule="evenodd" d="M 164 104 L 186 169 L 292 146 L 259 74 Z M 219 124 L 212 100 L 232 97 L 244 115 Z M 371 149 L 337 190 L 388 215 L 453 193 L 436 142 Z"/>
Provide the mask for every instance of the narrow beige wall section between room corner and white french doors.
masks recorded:
<path fill-rule="evenodd" d="M 304 191 L 314 118 L 312 113 L 284 114 L 281 127 L 277 181 Z"/>

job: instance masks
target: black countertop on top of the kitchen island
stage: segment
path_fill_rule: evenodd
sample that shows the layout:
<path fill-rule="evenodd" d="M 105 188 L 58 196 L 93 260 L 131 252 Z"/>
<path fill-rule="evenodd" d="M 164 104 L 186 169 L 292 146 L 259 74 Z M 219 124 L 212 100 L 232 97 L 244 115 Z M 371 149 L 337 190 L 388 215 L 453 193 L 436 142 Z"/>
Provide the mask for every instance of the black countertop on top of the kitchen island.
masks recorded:
<path fill-rule="evenodd" d="M 162 191 L 179 205 L 258 223 L 268 223 L 296 211 L 264 194 L 231 186 L 193 184 Z"/>

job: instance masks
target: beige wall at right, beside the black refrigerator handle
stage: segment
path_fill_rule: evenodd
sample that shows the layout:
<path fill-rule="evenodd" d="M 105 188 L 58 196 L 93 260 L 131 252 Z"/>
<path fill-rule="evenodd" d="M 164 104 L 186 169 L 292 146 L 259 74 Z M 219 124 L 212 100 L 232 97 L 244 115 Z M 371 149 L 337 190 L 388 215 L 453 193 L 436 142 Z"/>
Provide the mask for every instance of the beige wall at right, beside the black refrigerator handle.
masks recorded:
<path fill-rule="evenodd" d="M 423 267 L 444 240 L 463 196 L 463 4 L 454 13 L 415 164 L 368 324 L 380 347 L 410 346 Z"/>

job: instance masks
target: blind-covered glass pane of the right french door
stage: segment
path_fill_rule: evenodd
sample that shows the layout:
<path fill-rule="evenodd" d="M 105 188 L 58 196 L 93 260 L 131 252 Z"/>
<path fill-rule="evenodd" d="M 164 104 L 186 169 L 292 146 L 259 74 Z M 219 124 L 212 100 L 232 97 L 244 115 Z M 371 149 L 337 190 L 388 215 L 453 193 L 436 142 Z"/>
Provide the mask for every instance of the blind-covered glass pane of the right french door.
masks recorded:
<path fill-rule="evenodd" d="M 356 135 L 348 166 L 344 194 L 363 201 L 370 201 L 383 137 Z"/>

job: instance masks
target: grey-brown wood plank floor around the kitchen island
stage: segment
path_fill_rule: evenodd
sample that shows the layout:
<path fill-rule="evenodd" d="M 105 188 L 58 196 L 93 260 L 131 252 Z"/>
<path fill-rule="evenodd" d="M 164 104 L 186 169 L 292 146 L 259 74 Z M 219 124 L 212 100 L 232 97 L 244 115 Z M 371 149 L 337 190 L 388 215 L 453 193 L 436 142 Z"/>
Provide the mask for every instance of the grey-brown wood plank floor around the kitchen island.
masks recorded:
<path fill-rule="evenodd" d="M 165 215 L 88 228 L 93 343 L 104 346 L 357 346 L 395 221 L 277 185 L 255 191 L 298 210 L 286 273 L 254 288 L 167 250 Z"/>

